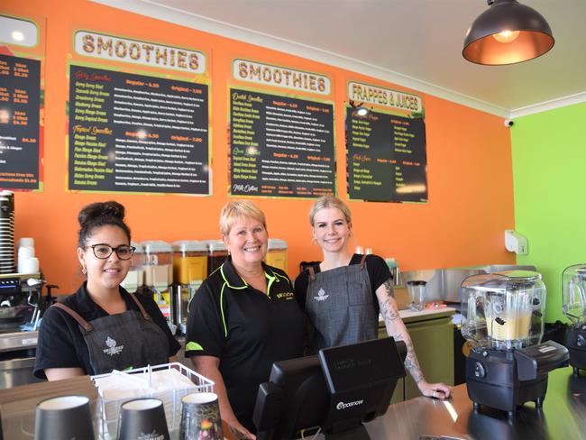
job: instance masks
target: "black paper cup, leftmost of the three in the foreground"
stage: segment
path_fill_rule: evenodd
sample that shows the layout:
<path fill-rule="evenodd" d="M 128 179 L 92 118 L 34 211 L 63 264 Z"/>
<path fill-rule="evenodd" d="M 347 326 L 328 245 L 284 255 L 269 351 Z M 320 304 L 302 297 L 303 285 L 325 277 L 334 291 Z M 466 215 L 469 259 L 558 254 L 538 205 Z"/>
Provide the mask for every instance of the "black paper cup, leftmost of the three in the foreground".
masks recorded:
<path fill-rule="evenodd" d="M 42 400 L 34 419 L 35 440 L 94 440 L 87 396 L 60 396 Z"/>

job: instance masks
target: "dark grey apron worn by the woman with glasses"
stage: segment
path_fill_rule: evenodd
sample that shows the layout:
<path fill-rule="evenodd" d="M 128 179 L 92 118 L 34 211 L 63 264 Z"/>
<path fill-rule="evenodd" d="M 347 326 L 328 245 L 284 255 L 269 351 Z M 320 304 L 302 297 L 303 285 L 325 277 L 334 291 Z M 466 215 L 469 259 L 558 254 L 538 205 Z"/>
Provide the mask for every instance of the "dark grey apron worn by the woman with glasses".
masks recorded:
<path fill-rule="evenodd" d="M 159 325 L 152 322 L 139 300 L 129 292 L 141 310 L 98 317 L 87 322 L 79 314 L 57 303 L 79 324 L 89 351 L 89 363 L 94 370 L 87 374 L 104 374 L 113 370 L 142 368 L 169 362 L 169 341 Z"/>

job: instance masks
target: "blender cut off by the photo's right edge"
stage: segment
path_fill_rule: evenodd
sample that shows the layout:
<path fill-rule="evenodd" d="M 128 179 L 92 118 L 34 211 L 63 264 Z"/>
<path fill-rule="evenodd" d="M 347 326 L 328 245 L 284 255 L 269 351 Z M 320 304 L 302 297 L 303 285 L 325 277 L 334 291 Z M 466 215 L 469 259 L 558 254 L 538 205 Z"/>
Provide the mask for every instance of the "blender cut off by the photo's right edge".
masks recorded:
<path fill-rule="evenodd" d="M 586 370 L 586 264 L 574 264 L 562 273 L 563 315 L 572 324 L 565 334 L 570 365 L 575 376 Z"/>

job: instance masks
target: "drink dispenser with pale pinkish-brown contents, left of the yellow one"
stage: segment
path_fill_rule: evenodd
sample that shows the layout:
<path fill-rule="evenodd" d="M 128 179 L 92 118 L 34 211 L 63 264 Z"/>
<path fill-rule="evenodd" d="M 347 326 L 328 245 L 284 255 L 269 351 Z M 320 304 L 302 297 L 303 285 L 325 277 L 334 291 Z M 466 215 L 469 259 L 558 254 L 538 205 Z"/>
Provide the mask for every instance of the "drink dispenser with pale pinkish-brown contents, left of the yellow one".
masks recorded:
<path fill-rule="evenodd" d="M 166 242 L 142 242 L 144 248 L 144 288 L 160 308 L 169 326 L 173 325 L 173 247 Z"/>

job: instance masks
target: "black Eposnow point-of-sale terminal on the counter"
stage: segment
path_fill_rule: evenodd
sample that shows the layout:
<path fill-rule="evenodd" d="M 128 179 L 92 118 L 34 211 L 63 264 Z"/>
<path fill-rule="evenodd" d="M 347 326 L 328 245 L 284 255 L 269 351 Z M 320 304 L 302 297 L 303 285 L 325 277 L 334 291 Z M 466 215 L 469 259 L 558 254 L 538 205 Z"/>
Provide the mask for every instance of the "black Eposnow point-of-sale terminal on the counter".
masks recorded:
<path fill-rule="evenodd" d="M 258 440 L 300 438 L 312 426 L 335 438 L 381 416 L 405 376 L 405 353 L 405 344 L 384 338 L 275 362 L 254 408 Z"/>

